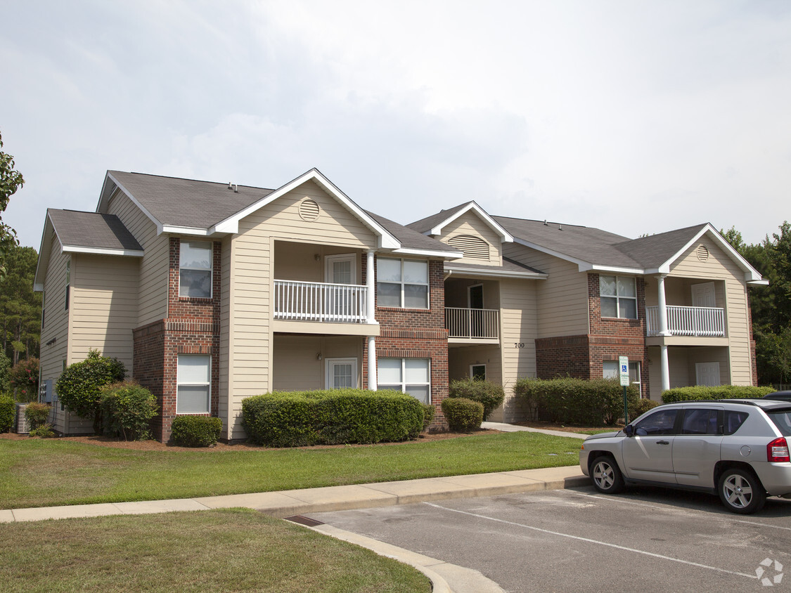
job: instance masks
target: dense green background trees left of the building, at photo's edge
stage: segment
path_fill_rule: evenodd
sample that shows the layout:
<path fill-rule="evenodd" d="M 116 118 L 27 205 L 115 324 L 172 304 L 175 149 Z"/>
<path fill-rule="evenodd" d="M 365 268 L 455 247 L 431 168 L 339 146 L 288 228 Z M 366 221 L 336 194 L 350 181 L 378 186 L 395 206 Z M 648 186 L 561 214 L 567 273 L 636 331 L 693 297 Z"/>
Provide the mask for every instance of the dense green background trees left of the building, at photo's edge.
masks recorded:
<path fill-rule="evenodd" d="M 13 364 L 39 356 L 41 293 L 33 292 L 37 261 L 32 247 L 13 246 L 6 255 L 6 277 L 0 281 L 0 338 Z"/>

